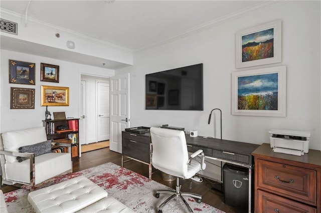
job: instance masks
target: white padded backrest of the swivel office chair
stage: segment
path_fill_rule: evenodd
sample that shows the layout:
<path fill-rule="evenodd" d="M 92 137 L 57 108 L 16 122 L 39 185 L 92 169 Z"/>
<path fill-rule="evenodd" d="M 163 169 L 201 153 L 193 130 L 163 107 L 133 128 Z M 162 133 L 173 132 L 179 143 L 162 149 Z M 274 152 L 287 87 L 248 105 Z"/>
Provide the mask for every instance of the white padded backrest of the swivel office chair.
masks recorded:
<path fill-rule="evenodd" d="M 189 159 L 185 132 L 151 127 L 150 136 L 152 165 L 165 173 L 185 178 Z"/>

